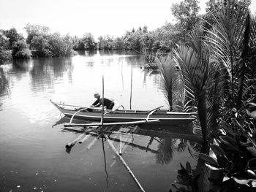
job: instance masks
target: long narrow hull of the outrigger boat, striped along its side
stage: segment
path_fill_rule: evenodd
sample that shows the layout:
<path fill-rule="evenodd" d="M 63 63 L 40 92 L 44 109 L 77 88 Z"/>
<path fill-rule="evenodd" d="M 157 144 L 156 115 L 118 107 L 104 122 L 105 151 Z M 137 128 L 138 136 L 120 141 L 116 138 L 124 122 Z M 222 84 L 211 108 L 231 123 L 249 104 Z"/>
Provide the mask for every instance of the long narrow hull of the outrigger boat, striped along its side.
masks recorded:
<path fill-rule="evenodd" d="M 62 107 L 61 104 L 56 104 L 51 101 L 57 109 L 65 116 L 72 118 L 75 114 L 75 118 L 83 120 L 100 121 L 102 118 L 101 110 L 92 111 L 80 111 L 73 109 L 67 109 Z M 77 107 L 77 106 L 76 106 Z M 175 125 L 175 126 L 187 126 L 193 120 L 195 120 L 195 113 L 187 112 L 167 112 L 166 110 L 158 110 L 148 117 L 150 111 L 142 110 L 107 110 L 108 113 L 104 115 L 104 122 L 129 122 L 139 120 L 159 120 L 157 125 Z"/>

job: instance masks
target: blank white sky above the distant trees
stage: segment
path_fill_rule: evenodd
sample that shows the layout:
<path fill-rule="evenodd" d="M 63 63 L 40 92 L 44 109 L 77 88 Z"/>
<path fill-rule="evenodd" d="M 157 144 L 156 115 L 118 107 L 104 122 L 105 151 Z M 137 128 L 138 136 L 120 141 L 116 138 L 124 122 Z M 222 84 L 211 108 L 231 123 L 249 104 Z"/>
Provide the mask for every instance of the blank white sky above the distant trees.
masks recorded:
<path fill-rule="evenodd" d="M 15 27 L 26 32 L 26 23 L 48 26 L 51 32 L 82 37 L 91 32 L 95 38 L 110 34 L 121 37 L 139 26 L 148 30 L 173 22 L 170 7 L 179 0 L 0 0 L 0 28 Z M 206 1 L 200 0 L 200 12 Z M 252 11 L 256 0 L 252 0 Z"/>

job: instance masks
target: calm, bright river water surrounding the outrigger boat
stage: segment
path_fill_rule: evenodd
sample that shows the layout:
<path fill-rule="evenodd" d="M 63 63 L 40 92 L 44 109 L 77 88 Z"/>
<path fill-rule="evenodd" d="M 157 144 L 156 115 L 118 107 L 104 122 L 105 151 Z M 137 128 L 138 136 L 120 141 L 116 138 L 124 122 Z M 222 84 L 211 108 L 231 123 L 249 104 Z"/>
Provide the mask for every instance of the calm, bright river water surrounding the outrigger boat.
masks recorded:
<path fill-rule="evenodd" d="M 68 119 L 49 100 L 89 106 L 104 75 L 105 96 L 116 106 L 167 109 L 159 72 L 143 64 L 135 53 L 86 52 L 0 65 L 0 191 L 140 191 L 105 139 L 90 136 L 66 150 L 80 134 L 64 130 Z M 110 136 L 145 191 L 169 191 L 180 163 L 197 164 L 192 130 L 169 129 Z"/>

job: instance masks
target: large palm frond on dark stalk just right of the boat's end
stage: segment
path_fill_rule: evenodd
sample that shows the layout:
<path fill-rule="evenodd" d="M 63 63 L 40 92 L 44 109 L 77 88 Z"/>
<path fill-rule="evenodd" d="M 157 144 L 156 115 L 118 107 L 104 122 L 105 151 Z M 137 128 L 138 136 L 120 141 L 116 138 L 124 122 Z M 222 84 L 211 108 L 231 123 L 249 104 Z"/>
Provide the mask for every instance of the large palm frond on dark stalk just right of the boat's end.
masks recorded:
<path fill-rule="evenodd" d="M 206 115 L 209 54 L 206 47 L 203 47 L 202 39 L 201 30 L 192 31 L 190 34 L 190 46 L 179 46 L 174 50 L 174 58 L 176 65 L 181 68 L 186 88 L 192 90 L 195 95 L 203 139 L 207 141 L 208 129 L 210 129 L 207 127 L 208 116 Z"/>

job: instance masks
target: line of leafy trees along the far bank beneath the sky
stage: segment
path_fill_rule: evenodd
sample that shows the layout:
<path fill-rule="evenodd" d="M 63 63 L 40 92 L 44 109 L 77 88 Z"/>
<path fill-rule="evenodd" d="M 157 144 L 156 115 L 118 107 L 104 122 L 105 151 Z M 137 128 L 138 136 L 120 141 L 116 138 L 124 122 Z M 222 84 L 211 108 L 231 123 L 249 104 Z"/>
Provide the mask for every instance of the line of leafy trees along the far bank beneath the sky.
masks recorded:
<path fill-rule="evenodd" d="M 165 23 L 154 31 L 148 31 L 147 26 L 132 28 L 122 37 L 110 35 L 94 39 L 91 33 L 83 37 L 61 36 L 58 32 L 50 33 L 47 26 L 26 24 L 27 38 L 19 34 L 15 28 L 0 29 L 0 61 L 8 58 L 58 57 L 72 55 L 76 50 L 136 50 L 168 52 L 178 42 L 186 42 L 187 34 L 193 26 L 200 23 L 200 18 L 208 18 L 208 13 L 199 15 L 199 1 L 184 0 L 173 4 L 171 12 L 177 22 Z M 211 9 L 214 1 L 208 1 Z"/>

